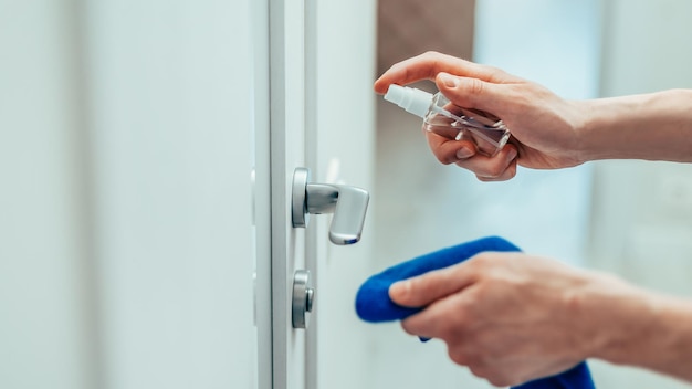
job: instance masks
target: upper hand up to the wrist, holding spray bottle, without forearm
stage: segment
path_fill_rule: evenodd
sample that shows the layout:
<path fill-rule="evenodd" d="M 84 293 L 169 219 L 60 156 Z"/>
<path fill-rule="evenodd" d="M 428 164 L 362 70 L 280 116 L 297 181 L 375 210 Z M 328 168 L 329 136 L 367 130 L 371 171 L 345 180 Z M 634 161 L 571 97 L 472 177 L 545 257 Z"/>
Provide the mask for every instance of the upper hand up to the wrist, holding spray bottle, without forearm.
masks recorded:
<path fill-rule="evenodd" d="M 492 113 L 512 132 L 510 143 L 494 157 L 476 154 L 471 140 L 450 140 L 426 132 L 440 162 L 457 164 L 483 181 L 514 177 L 517 162 L 535 169 L 583 162 L 577 135 L 585 115 L 578 103 L 499 69 L 437 52 L 395 64 L 374 87 L 384 94 L 391 84 L 406 85 L 420 80 L 434 80 L 438 90 L 452 103 Z"/>

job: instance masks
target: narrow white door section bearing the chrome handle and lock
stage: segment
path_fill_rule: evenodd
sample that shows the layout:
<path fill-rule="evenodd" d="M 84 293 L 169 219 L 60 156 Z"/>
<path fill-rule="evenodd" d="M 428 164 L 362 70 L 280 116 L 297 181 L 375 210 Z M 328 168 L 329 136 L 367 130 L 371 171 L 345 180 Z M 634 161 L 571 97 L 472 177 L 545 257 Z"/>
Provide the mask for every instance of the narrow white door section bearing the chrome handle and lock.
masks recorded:
<path fill-rule="evenodd" d="M 255 6 L 254 18 L 255 25 L 269 25 L 269 85 L 259 88 L 268 97 L 256 97 L 255 109 L 268 103 L 270 129 L 258 127 L 255 134 L 256 177 L 258 188 L 271 187 L 271 198 L 260 200 L 269 202 L 271 212 L 265 214 L 258 206 L 258 294 L 271 295 L 271 312 L 260 297 L 258 325 L 260 334 L 266 334 L 265 319 L 271 318 L 271 386 L 361 387 L 367 341 L 353 298 L 367 275 L 367 223 L 355 245 L 336 245 L 328 238 L 332 222 L 358 219 L 356 208 L 361 203 L 342 210 L 337 206 L 337 213 L 342 211 L 337 215 L 308 214 L 302 228 L 294 227 L 292 201 L 294 192 L 301 192 L 294 187 L 296 168 L 310 170 L 308 183 L 342 188 L 339 201 L 352 186 L 371 187 L 375 2 L 272 0 L 268 20 L 262 7 Z M 261 72 L 263 33 L 255 34 L 260 38 L 255 65 Z M 258 77 L 255 83 L 264 81 Z M 295 328 L 294 323 L 303 320 L 293 312 L 295 275 L 301 271 L 310 272 L 308 286 L 314 290 L 313 309 L 304 316 L 307 328 Z M 268 360 L 260 354 L 263 369 Z M 260 385 L 269 388 L 270 382 L 262 381 L 265 372 L 260 372 Z"/>

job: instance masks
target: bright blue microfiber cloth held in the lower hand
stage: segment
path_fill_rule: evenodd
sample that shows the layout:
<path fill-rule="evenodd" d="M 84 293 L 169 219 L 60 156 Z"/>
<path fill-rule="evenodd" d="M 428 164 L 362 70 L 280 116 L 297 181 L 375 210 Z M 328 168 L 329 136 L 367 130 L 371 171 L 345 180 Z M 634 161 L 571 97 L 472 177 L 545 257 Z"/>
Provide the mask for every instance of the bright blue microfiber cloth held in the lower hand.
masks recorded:
<path fill-rule="evenodd" d="M 370 323 L 401 320 L 423 309 L 403 307 L 389 299 L 389 286 L 397 281 L 448 267 L 484 251 L 521 251 L 514 244 L 497 236 L 479 239 L 452 248 L 442 249 L 391 266 L 369 277 L 356 295 L 356 313 Z M 514 387 L 515 389 L 595 389 L 586 362 L 555 376 L 541 378 Z"/>

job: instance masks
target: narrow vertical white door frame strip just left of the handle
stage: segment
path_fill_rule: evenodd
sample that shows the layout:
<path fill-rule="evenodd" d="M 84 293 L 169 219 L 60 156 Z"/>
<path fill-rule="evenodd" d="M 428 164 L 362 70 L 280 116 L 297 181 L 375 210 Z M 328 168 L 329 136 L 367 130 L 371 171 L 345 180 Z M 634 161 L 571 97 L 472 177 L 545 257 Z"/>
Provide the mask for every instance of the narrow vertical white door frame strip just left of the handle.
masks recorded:
<path fill-rule="evenodd" d="M 293 273 L 305 267 L 305 232 L 293 229 L 290 209 L 293 169 L 305 165 L 304 7 L 304 0 L 268 1 L 269 134 L 260 147 L 265 147 L 268 158 L 262 159 L 269 161 L 270 240 L 264 248 L 270 248 L 273 389 L 300 386 L 306 374 L 305 334 L 291 325 Z"/>

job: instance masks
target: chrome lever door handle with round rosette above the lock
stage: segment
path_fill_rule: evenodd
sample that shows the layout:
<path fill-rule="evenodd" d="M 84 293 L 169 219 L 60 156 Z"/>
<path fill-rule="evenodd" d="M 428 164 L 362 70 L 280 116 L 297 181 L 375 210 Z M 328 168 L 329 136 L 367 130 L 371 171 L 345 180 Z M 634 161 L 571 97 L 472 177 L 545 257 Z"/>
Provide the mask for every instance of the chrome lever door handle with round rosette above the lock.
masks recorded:
<path fill-rule="evenodd" d="M 360 240 L 370 195 L 347 185 L 312 183 L 310 169 L 293 172 L 293 227 L 307 227 L 310 214 L 334 213 L 329 240 L 334 244 L 353 244 Z"/>

